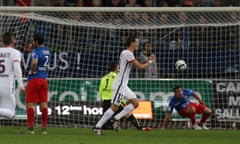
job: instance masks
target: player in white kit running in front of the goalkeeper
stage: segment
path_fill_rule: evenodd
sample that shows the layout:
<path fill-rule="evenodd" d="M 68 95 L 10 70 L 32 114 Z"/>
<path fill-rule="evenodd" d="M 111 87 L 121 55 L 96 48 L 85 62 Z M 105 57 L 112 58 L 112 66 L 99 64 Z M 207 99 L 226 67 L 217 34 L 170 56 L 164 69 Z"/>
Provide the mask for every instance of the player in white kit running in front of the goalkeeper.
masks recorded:
<path fill-rule="evenodd" d="M 135 108 L 138 107 L 138 100 L 136 94 L 128 87 L 129 75 L 132 67 L 137 69 L 144 69 L 149 64 L 155 60 L 155 56 L 149 56 L 148 60 L 145 63 L 139 63 L 133 52 L 138 47 L 138 40 L 135 37 L 128 37 L 127 49 L 123 50 L 120 54 L 119 60 L 119 72 L 116 80 L 113 83 L 113 96 L 112 96 L 112 105 L 111 107 L 104 113 L 101 119 L 97 122 L 93 131 L 98 135 L 102 135 L 102 126 L 113 116 L 115 112 L 118 111 L 120 103 L 122 99 L 126 99 L 130 102 L 124 109 L 114 116 L 114 129 L 117 131 L 119 128 L 119 120 L 125 115 L 131 113 Z"/>

